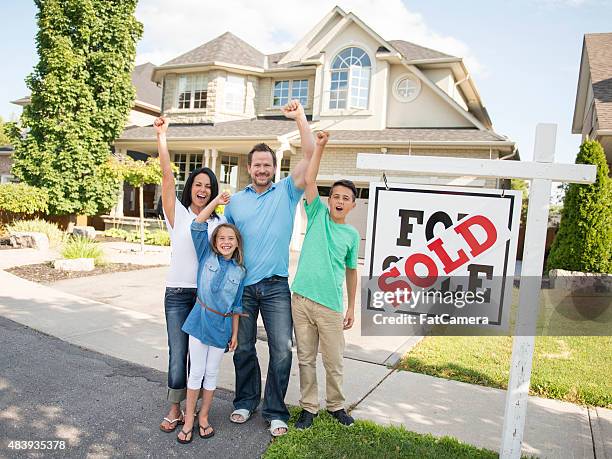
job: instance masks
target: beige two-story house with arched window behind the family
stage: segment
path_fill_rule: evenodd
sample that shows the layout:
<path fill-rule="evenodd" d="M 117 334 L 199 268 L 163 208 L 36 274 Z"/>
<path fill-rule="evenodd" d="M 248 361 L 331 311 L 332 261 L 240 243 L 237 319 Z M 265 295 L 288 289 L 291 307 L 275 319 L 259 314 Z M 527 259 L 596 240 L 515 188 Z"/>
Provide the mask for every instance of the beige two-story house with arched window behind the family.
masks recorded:
<path fill-rule="evenodd" d="M 153 72 L 170 118 L 168 144 L 179 167 L 206 165 L 232 192 L 249 183 L 247 152 L 266 142 L 278 158 L 277 178 L 300 160 L 294 122 L 281 107 L 299 99 L 313 129 L 330 131 L 322 160 L 321 192 L 339 178 L 358 187 L 350 216 L 365 237 L 368 186 L 378 171 L 356 169 L 358 153 L 518 159 L 514 142 L 492 129 L 461 58 L 402 40 L 385 40 L 353 13 L 333 8 L 289 51 L 263 54 L 227 32 Z M 118 151 L 156 153 L 152 127 L 126 129 Z M 416 177 L 389 171 L 390 182 L 500 185 L 495 180 Z M 303 210 L 296 232 L 303 232 Z M 294 238 L 294 248 L 300 238 Z"/>

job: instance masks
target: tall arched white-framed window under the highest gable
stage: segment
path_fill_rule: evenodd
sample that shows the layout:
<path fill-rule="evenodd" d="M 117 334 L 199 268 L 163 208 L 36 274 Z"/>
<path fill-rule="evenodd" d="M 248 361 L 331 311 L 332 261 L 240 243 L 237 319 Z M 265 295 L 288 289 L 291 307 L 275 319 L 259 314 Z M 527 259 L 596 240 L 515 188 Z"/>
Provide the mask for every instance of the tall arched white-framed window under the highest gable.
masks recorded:
<path fill-rule="evenodd" d="M 338 59 L 340 54 L 348 49 L 355 48 L 363 53 L 359 57 L 359 60 L 363 59 L 364 56 L 369 61 L 369 65 L 353 65 L 348 64 L 347 67 L 333 68 L 335 61 Z M 353 56 L 351 56 L 352 58 Z M 344 58 L 343 58 L 344 59 Z M 370 105 L 370 89 L 372 83 L 372 59 L 364 47 L 360 45 L 346 46 L 340 49 L 334 54 L 330 62 L 330 80 L 329 80 L 329 101 L 327 103 L 328 110 L 368 110 Z M 334 75 L 341 75 L 345 73 L 346 78 L 335 78 Z M 366 82 L 365 84 L 364 81 Z M 346 89 L 340 90 L 340 85 L 337 84 L 336 89 L 332 89 L 334 84 L 337 82 L 346 82 Z M 345 98 L 334 97 L 340 93 L 345 93 Z M 340 106 L 341 102 L 345 103 L 345 106 Z M 335 105 L 335 107 L 333 106 Z"/>

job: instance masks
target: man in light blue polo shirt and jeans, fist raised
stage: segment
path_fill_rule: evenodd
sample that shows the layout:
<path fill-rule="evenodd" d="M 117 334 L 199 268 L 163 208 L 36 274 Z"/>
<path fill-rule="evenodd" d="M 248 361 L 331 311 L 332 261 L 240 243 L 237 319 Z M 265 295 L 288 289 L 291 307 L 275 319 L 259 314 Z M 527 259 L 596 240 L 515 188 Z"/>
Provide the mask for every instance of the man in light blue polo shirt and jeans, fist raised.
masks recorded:
<path fill-rule="evenodd" d="M 288 283 L 289 242 L 296 206 L 306 184 L 306 169 L 314 151 L 312 132 L 300 103 L 291 101 L 283 113 L 297 123 L 304 158 L 289 177 L 273 183 L 276 155 L 266 144 L 255 145 L 248 156 L 252 183 L 233 196 L 225 209 L 228 222 L 236 225 L 244 237 L 247 269 L 242 306 L 248 317 L 240 320 L 238 329 L 238 348 L 234 353 L 235 410 L 230 420 L 239 424 L 246 422 L 261 399 L 261 370 L 255 350 L 257 317 L 261 312 L 270 353 L 262 415 L 275 437 L 287 433 L 289 420 L 285 405 L 293 325 Z"/>

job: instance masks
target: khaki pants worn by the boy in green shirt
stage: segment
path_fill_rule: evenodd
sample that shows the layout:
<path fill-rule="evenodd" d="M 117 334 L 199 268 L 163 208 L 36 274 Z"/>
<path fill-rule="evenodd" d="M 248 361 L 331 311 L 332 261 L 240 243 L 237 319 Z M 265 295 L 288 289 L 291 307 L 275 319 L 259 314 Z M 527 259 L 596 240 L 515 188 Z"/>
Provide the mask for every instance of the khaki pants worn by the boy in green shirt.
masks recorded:
<path fill-rule="evenodd" d="M 344 318 L 341 313 L 297 293 L 291 301 L 293 327 L 300 366 L 300 406 L 313 414 L 319 411 L 317 353 L 321 350 L 325 367 L 327 409 L 344 408 L 342 371 L 344 353 Z"/>

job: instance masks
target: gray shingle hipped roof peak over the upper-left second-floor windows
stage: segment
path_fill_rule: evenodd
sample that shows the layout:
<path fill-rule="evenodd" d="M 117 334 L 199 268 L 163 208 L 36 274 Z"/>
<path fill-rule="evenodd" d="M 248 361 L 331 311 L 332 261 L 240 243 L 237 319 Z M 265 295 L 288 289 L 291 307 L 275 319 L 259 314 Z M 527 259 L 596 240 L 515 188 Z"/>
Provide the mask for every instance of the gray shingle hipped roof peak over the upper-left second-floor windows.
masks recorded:
<path fill-rule="evenodd" d="M 163 64 L 162 67 L 213 61 L 263 68 L 264 54 L 231 32 L 225 32 L 223 35 L 175 57 Z"/>

